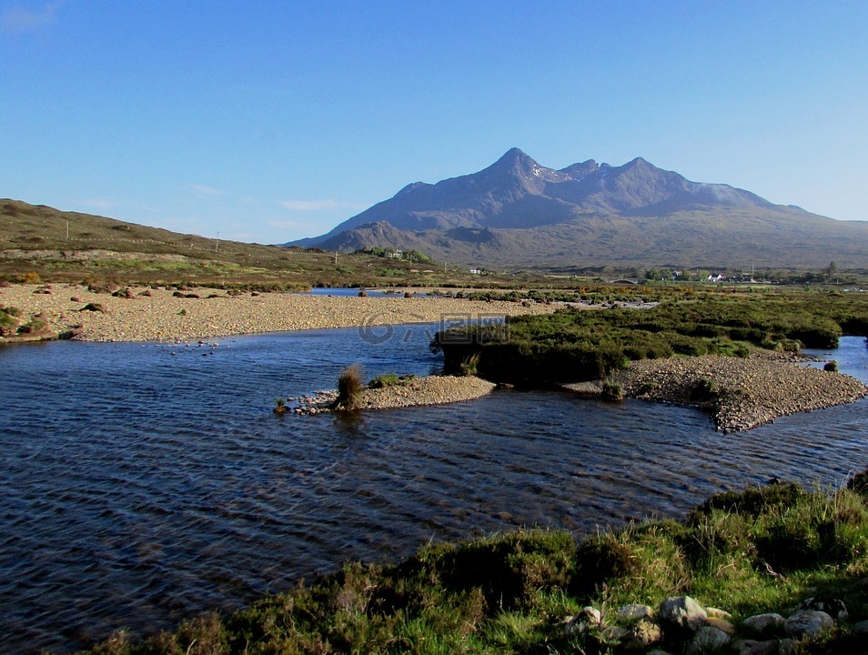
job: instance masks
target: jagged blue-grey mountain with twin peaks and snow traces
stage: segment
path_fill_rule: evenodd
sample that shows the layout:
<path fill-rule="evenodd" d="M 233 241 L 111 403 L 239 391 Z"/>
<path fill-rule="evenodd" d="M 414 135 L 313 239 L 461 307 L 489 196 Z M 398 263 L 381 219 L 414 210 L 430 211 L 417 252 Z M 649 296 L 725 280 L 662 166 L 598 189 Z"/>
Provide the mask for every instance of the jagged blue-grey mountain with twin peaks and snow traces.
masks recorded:
<path fill-rule="evenodd" d="M 556 170 L 512 148 L 478 173 L 415 182 L 286 245 L 416 249 L 486 267 L 864 267 L 868 223 L 691 182 L 641 157 Z"/>

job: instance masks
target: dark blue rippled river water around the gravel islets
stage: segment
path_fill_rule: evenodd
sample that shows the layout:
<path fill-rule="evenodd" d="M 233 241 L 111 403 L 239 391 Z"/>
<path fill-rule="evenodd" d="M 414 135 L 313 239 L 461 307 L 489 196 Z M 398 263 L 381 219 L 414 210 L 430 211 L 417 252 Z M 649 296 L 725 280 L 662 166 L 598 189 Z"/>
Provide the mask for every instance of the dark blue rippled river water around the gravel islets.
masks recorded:
<path fill-rule="evenodd" d="M 167 628 L 429 539 L 585 533 L 772 476 L 837 484 L 868 466 L 865 401 L 732 435 L 690 408 L 553 392 L 271 413 L 278 396 L 333 388 L 353 361 L 368 377 L 429 373 L 431 329 L 395 328 L 379 346 L 343 329 L 0 350 L 2 650 Z M 833 357 L 868 379 L 863 339 Z"/>

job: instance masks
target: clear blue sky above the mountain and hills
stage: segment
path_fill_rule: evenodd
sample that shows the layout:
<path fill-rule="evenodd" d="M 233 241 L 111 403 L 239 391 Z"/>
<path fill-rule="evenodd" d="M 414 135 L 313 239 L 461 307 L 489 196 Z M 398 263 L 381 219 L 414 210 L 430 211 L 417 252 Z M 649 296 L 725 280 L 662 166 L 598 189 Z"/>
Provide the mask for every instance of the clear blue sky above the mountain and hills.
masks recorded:
<path fill-rule="evenodd" d="M 0 196 L 317 236 L 517 146 L 868 219 L 868 3 L 0 0 Z"/>

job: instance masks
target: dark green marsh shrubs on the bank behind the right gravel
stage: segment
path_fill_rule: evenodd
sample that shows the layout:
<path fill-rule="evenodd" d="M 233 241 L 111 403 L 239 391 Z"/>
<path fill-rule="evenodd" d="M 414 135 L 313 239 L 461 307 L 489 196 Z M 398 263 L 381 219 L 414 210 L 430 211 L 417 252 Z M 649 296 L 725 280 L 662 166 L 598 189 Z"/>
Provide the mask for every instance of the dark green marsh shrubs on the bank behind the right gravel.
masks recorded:
<path fill-rule="evenodd" d="M 631 360 L 673 355 L 746 357 L 752 348 L 798 352 L 834 348 L 842 335 L 868 334 L 868 295 L 790 290 L 696 293 L 637 311 L 565 307 L 511 317 L 507 326 L 456 328 L 437 342 L 448 371 L 475 358 L 479 375 L 539 384 L 605 378 Z"/>

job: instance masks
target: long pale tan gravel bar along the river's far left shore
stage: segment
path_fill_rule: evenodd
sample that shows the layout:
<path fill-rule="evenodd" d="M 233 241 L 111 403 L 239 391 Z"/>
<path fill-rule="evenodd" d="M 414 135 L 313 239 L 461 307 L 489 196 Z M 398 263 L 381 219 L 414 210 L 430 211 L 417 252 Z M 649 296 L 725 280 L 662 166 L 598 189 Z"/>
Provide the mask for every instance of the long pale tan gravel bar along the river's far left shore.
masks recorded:
<path fill-rule="evenodd" d="M 48 291 L 49 293 L 45 293 Z M 554 305 L 471 301 L 450 297 L 338 297 L 245 293 L 230 297 L 214 288 L 130 287 L 132 297 L 93 293 L 78 285 L 13 285 L 0 288 L 0 304 L 25 317 L 42 314 L 56 332 L 81 325 L 86 341 L 175 341 L 314 328 L 436 322 L 446 317 L 548 314 Z M 150 296 L 143 295 L 149 293 Z M 73 299 L 75 298 L 75 299 Z M 89 303 L 105 312 L 83 311 Z"/>

